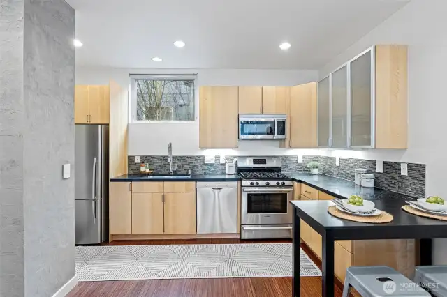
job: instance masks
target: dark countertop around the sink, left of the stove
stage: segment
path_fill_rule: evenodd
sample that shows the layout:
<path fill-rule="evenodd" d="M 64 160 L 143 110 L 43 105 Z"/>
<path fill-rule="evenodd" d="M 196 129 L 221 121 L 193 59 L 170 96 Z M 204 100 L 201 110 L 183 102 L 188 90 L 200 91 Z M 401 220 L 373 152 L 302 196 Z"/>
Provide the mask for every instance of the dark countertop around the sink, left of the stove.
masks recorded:
<path fill-rule="evenodd" d="M 148 174 L 123 174 L 110 181 L 240 181 L 237 174 L 191 174 L 191 176 L 157 176 Z"/>

